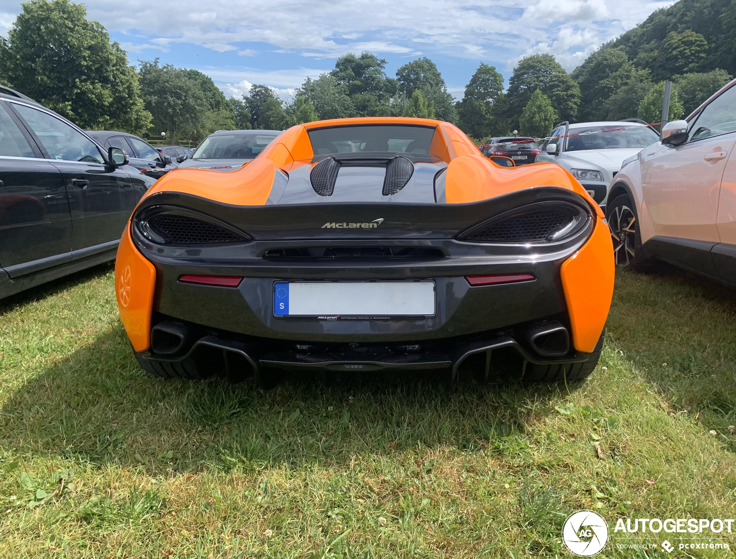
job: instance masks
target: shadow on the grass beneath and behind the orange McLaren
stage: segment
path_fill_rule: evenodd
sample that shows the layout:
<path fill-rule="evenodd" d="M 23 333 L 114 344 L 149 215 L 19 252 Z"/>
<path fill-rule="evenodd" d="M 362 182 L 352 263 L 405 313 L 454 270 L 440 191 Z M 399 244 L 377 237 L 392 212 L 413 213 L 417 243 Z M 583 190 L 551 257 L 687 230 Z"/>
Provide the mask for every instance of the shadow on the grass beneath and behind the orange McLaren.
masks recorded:
<path fill-rule="evenodd" d="M 525 425 L 549 413 L 561 391 L 471 382 L 445 394 L 422 374 L 331 384 L 288 377 L 270 392 L 252 381 L 159 380 L 138 368 L 118 326 L 10 397 L 0 446 L 150 474 L 346 463 L 439 444 L 513 457 L 528 447 Z"/>

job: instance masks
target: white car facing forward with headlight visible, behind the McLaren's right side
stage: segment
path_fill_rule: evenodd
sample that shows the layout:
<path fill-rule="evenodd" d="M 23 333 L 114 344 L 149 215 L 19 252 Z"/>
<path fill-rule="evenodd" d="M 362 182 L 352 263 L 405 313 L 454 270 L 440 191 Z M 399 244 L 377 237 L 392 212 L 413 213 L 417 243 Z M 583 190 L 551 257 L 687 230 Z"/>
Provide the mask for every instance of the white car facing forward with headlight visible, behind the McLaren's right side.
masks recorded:
<path fill-rule="evenodd" d="M 601 132 L 623 127 L 626 129 Z M 568 135 L 573 136 L 566 137 Z M 630 120 L 577 124 L 562 122 L 549 136 L 552 139 L 542 143 L 542 152 L 537 155 L 537 161 L 562 165 L 601 207 L 606 207 L 609 185 L 623 160 L 659 140 L 659 134 L 645 122 Z"/>

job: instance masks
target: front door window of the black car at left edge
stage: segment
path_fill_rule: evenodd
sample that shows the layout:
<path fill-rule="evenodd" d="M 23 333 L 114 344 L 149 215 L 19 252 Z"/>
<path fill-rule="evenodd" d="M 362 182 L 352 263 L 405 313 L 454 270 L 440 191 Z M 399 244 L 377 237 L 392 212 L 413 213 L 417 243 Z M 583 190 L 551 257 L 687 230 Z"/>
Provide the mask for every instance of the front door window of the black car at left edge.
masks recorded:
<path fill-rule="evenodd" d="M 25 105 L 15 104 L 15 109 L 38 136 L 52 159 L 105 163 L 93 141 L 66 122 Z"/>

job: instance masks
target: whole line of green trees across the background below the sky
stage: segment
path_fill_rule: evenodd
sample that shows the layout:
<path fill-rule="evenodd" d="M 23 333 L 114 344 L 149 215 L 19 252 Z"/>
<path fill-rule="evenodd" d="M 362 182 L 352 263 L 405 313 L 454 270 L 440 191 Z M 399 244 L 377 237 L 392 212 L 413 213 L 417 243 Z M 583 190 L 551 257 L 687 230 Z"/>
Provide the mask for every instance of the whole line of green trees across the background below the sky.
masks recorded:
<path fill-rule="evenodd" d="M 712 17 L 704 17 L 707 10 Z M 730 19 L 729 19 L 730 18 Z M 471 138 L 541 137 L 559 121 L 661 116 L 665 80 L 673 81 L 669 119 L 698 107 L 735 71 L 736 2 L 680 0 L 592 53 L 568 74 L 551 54 L 524 57 L 508 87 L 481 63 L 459 101 L 427 57 L 386 74 L 375 54 L 345 54 L 333 70 L 308 78 L 290 102 L 266 85 L 227 99 L 212 79 L 159 60 L 129 65 L 82 4 L 31 0 L 8 38 L 0 38 L 0 81 L 86 129 L 198 141 L 217 129 L 286 129 L 349 116 L 416 116 L 458 124 Z M 725 37 L 725 38 L 724 38 Z"/>

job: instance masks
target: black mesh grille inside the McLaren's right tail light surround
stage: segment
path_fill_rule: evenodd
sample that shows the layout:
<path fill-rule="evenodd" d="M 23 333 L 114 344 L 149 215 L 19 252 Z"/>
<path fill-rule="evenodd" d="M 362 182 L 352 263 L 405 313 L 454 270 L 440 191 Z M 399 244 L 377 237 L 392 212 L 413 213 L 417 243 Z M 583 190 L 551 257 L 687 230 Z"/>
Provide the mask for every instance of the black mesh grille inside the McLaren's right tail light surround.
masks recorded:
<path fill-rule="evenodd" d="M 514 216 L 468 235 L 464 241 L 530 243 L 545 241 L 565 227 L 573 216 L 561 210 L 540 210 Z"/>

